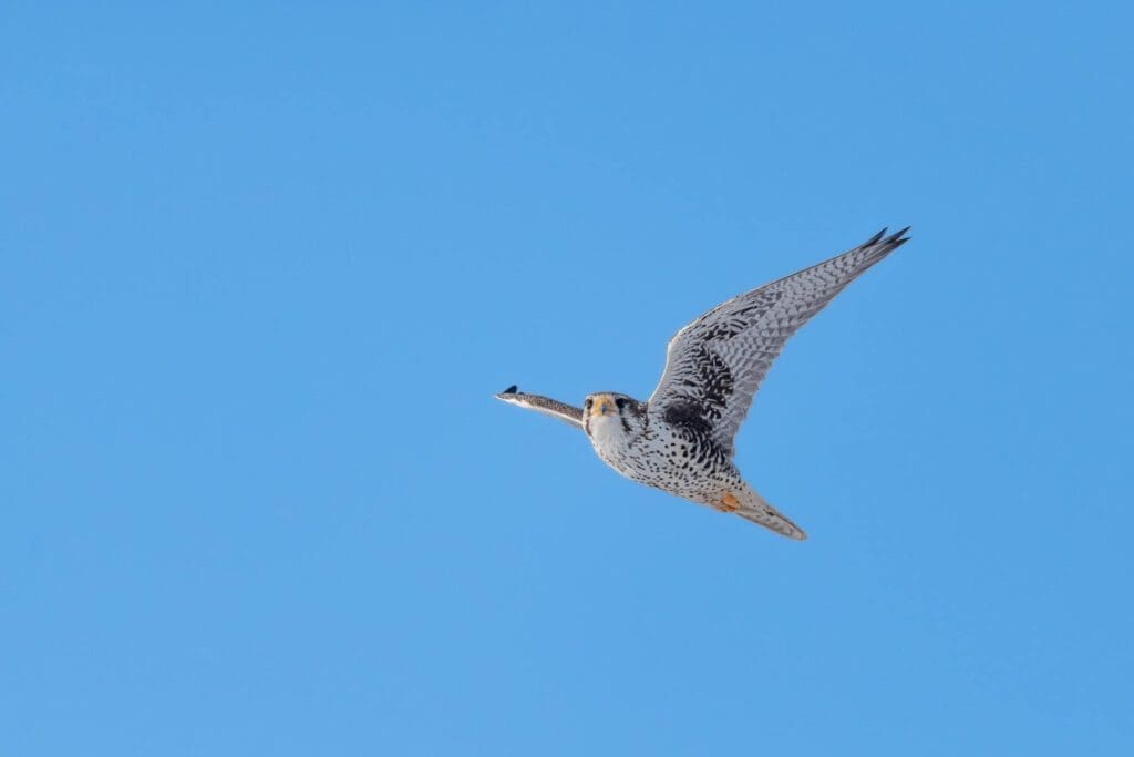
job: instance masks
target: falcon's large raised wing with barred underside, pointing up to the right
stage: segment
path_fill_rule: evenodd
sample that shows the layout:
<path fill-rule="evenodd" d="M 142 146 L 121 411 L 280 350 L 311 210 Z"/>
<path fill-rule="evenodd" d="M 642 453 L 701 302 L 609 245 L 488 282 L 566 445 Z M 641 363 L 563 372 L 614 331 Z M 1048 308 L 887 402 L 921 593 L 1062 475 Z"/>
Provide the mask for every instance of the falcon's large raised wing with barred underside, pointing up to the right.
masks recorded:
<path fill-rule="evenodd" d="M 841 255 L 713 308 L 669 340 L 650 412 L 693 423 L 734 452 L 733 438 L 784 343 L 868 268 L 907 241 L 882 229 Z"/>

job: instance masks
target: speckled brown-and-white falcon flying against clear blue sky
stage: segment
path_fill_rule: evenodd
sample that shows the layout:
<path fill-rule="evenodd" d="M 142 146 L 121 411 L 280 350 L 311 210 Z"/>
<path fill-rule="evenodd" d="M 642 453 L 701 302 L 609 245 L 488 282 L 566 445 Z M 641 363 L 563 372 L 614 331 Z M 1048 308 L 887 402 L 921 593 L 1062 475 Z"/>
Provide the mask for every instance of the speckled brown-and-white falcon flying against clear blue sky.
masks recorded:
<path fill-rule="evenodd" d="M 882 229 L 821 263 L 737 295 L 669 340 L 649 399 L 596 392 L 582 407 L 519 392 L 497 399 L 582 429 L 599 457 L 631 480 L 738 515 L 776 533 L 807 535 L 753 489 L 737 469 L 734 440 L 785 343 L 850 281 L 909 241 Z"/>

